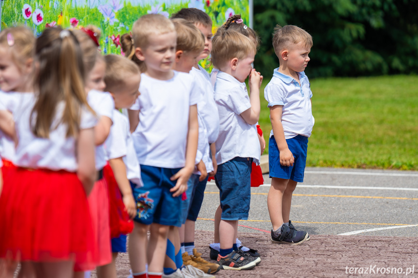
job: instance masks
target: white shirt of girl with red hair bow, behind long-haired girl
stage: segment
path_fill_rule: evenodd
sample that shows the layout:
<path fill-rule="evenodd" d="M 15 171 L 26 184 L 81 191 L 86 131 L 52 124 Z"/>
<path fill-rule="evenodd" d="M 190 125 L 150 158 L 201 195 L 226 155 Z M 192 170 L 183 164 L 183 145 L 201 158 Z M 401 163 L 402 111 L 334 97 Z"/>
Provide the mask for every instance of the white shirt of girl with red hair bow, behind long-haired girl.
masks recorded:
<path fill-rule="evenodd" d="M 91 90 L 87 95 L 87 102 L 90 107 L 96 112 L 97 117 L 108 117 L 113 121 L 113 110 L 115 110 L 115 102 L 108 92 L 101 92 Z M 101 170 L 105 167 L 108 158 L 103 145 L 96 146 L 96 170 Z"/>

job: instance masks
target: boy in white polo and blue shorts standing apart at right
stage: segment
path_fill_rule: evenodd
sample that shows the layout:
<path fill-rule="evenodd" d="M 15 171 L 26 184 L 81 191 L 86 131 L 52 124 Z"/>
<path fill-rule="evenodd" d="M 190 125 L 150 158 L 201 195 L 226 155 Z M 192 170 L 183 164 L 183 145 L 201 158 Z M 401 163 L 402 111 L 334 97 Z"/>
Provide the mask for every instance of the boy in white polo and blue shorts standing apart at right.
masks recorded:
<path fill-rule="evenodd" d="M 312 44 L 310 34 L 299 27 L 275 28 L 273 47 L 279 68 L 264 89 L 273 128 L 268 147 L 272 180 L 267 196 L 272 243 L 299 245 L 309 240 L 308 233 L 294 229 L 289 217 L 293 191 L 303 182 L 308 137 L 314 124 L 312 92 L 304 73 Z"/>

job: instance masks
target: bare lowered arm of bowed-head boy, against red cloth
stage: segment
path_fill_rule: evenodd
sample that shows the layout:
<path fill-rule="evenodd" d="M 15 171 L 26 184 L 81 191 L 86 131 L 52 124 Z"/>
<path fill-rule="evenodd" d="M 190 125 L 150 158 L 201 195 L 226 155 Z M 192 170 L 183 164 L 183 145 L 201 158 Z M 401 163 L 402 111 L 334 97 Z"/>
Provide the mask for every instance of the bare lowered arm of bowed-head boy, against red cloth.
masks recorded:
<path fill-rule="evenodd" d="M 116 183 L 122 192 L 122 200 L 126 207 L 126 210 L 131 219 L 133 219 L 137 213 L 135 208 L 135 200 L 132 194 L 131 185 L 126 176 L 126 165 L 122 157 L 110 159 L 110 168 L 112 168 L 113 175 L 115 176 Z"/>

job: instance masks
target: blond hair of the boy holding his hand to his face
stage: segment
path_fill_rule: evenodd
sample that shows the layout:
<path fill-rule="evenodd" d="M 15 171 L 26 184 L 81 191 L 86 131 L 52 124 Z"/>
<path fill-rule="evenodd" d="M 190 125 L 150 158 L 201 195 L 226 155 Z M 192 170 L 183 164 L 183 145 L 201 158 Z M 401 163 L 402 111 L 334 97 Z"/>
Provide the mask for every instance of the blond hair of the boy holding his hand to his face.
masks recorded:
<path fill-rule="evenodd" d="M 218 69 L 226 61 L 244 59 L 251 52 L 256 53 L 254 42 L 240 32 L 220 28 L 212 39 L 212 63 Z"/>

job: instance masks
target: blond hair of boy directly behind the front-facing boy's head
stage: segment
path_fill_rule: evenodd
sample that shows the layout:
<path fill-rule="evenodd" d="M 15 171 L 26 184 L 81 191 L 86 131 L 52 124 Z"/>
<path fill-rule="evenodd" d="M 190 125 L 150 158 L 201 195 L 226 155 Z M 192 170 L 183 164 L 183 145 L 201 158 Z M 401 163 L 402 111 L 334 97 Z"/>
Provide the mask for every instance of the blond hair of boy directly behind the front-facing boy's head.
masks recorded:
<path fill-rule="evenodd" d="M 203 51 L 204 36 L 193 23 L 182 18 L 174 18 L 171 21 L 177 33 L 177 50 L 188 53 L 200 53 Z"/>

